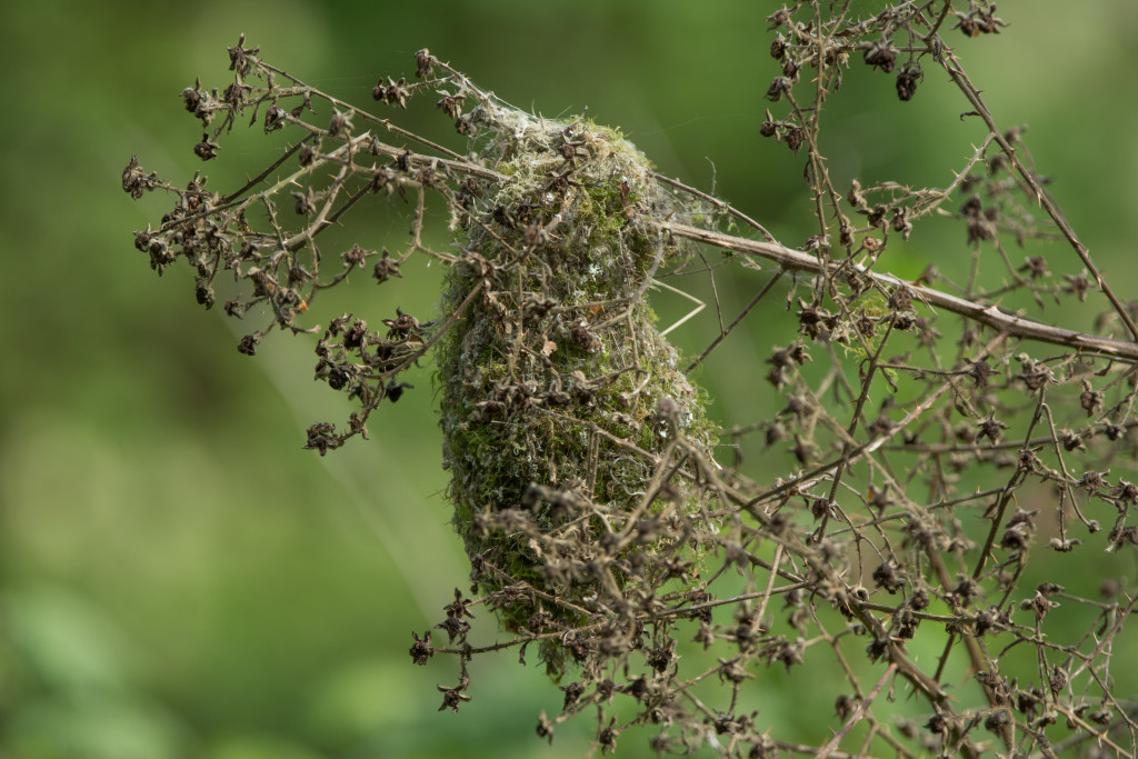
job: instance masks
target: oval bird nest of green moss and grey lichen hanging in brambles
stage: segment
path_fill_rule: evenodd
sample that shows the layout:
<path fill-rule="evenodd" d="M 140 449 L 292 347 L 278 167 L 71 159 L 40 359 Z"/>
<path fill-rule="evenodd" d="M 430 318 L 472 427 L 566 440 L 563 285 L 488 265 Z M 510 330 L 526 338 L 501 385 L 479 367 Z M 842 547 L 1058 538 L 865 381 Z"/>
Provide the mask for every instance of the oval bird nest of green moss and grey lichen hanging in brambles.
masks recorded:
<path fill-rule="evenodd" d="M 618 132 L 484 102 L 487 166 L 443 316 L 444 461 L 472 578 L 506 628 L 564 633 L 698 571 L 700 468 L 718 429 L 645 300 L 690 218 Z M 487 139 L 488 137 L 488 139 Z M 477 290 L 477 292 L 475 292 Z M 473 294 L 473 295 L 472 295 Z"/>

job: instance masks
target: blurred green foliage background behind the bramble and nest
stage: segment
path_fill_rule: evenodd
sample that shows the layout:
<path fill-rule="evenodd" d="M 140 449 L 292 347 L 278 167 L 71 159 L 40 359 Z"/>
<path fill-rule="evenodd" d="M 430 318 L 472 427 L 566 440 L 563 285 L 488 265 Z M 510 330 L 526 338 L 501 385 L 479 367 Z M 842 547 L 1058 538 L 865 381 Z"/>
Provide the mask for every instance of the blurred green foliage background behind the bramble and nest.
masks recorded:
<path fill-rule="evenodd" d="M 200 132 L 179 92 L 196 76 L 224 86 L 225 48 L 241 32 L 271 63 L 361 105 L 378 76 L 412 74 L 413 52 L 429 47 L 517 105 L 587 107 L 661 171 L 704 189 L 715 176 L 719 195 L 799 245 L 813 233 L 802 158 L 758 135 L 776 73 L 764 16 L 780 5 L 44 1 L 6 11 L 0 754 L 583 756 L 587 718 L 559 728 L 552 748 L 534 735 L 537 712 L 561 701 L 538 667 L 512 653 L 476 660 L 473 701 L 455 716 L 436 712 L 435 691 L 456 679 L 453 662 L 417 668 L 407 657 L 411 630 L 442 618 L 468 571 L 442 497 L 430 368 L 374 418 L 371 442 L 327 459 L 302 451 L 307 424 L 346 416 L 311 381 L 311 341 L 277 335 L 256 358 L 239 355 L 221 310 L 193 303 L 190 272 L 159 280 L 134 250 L 131 231 L 168 200 L 132 201 L 119 173 L 137 152 L 175 183 L 203 168 L 223 188 L 216 180 L 258 170 L 277 149 L 254 129 L 223 141 L 216 167 L 191 152 Z M 1127 297 L 1138 6 L 1032 0 L 1000 3 L 1000 15 L 1011 26 L 999 38 L 949 42 L 1001 123 L 1031 124 L 1038 165 Z M 855 58 L 831 101 L 831 172 L 840 187 L 855 175 L 943 185 L 982 137 L 957 117 L 965 109 L 935 71 L 906 105 L 891 77 Z M 447 133 L 431 114 L 409 118 Z M 365 247 L 395 249 L 406 228 L 363 229 Z M 896 254 L 898 273 L 953 270 L 963 231 L 941 229 L 918 226 Z M 1078 271 L 1069 251 L 1050 253 L 1053 271 Z M 432 272 L 419 263 L 421 287 L 377 299 L 370 317 L 429 311 Z M 762 281 L 719 278 L 728 319 Z M 789 339 L 774 331 L 781 303 L 700 376 L 727 423 L 776 403 L 759 378 L 772 345 Z M 661 298 L 659 311 L 683 305 Z M 692 350 L 715 330 L 706 313 L 675 337 Z M 787 462 L 768 456 L 751 473 L 769 478 Z M 773 692 L 762 718 L 817 723 L 803 699 Z M 620 753 L 643 745 L 629 736 Z"/>

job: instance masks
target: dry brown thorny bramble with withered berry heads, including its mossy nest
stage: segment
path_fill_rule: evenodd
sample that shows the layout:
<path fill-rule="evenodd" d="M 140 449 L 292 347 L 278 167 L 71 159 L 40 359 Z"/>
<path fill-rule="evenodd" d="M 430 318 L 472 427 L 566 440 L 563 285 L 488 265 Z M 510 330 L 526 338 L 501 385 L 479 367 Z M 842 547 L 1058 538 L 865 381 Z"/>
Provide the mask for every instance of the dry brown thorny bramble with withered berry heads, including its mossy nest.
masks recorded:
<path fill-rule="evenodd" d="M 473 696 L 472 657 L 517 650 L 525 661 L 534 644 L 567 683 L 537 734 L 552 741 L 591 710 L 602 752 L 649 726 L 661 753 L 1132 756 L 1138 668 L 1125 651 L 1138 596 L 1120 577 L 1138 545 L 1138 485 L 1111 468 L 1138 456 L 1138 310 L 1045 191 L 1023 127 L 996 123 L 945 39 L 1000 33 L 995 13 L 984 0 L 927 0 L 863 17 L 811 1 L 768 18 L 781 71 L 766 94 L 785 115 L 767 110 L 760 134 L 806 151 L 817 224 L 797 248 L 655 173 L 618 133 L 523 113 L 427 50 L 415 81 L 380 80 L 372 96 L 396 109 L 436 99 L 464 146 L 311 88 L 244 38 L 224 91 L 182 93 L 203 129 L 193 150 L 217 157 L 246 116 L 290 143 L 225 195 L 200 175 L 166 183 L 132 159 L 125 191 L 175 198 L 135 246 L 159 273 L 188 263 L 207 308 L 218 275 L 245 286 L 224 304 L 261 320 L 241 353 L 274 329 L 318 336 L 316 379 L 357 407 L 344 429 L 308 429 L 305 447 L 321 455 L 366 436 L 371 414 L 411 389 L 405 372 L 436 358 L 472 568 L 470 594 L 456 589 L 435 628 L 448 643 L 428 630 L 411 647 L 419 665 L 457 659 L 440 709 Z M 929 66 L 987 130 L 951 158 L 953 182 L 836 187 L 819 134 L 843 80 L 893 75 L 909 104 Z M 337 261 L 325 232 L 376 195 L 406 203 L 404 249 L 357 244 Z M 427 233 L 436 200 L 443 248 Z M 933 267 L 913 281 L 888 272 L 934 214 L 962 226 L 963 284 Z M 1052 274 L 1052 239 L 1085 272 Z M 1012 244 L 1028 253 L 1020 265 Z M 709 249 L 769 278 L 733 320 L 717 315 L 718 335 L 681 371 L 645 297 L 696 254 L 712 277 Z M 321 290 L 364 269 L 397 287 L 415 255 L 447 267 L 436 317 L 397 310 L 381 328 L 355 313 L 310 325 Z M 718 430 L 687 374 L 742 339 L 775 292 L 795 321 L 750 338 L 769 345 L 766 380 L 784 405 Z M 1099 296 L 1094 333 L 1044 319 L 1048 299 L 1075 313 Z M 368 305 L 361 297 L 358 313 Z M 1131 339 L 1113 336 L 1119 327 Z M 719 461 L 717 438 L 764 451 L 767 465 Z M 1046 579 L 1056 575 L 1075 587 Z M 508 638 L 468 640 L 483 610 Z M 823 685 L 807 661 L 839 674 Z M 813 732 L 773 724 L 765 695 L 776 687 L 833 717 Z"/>

